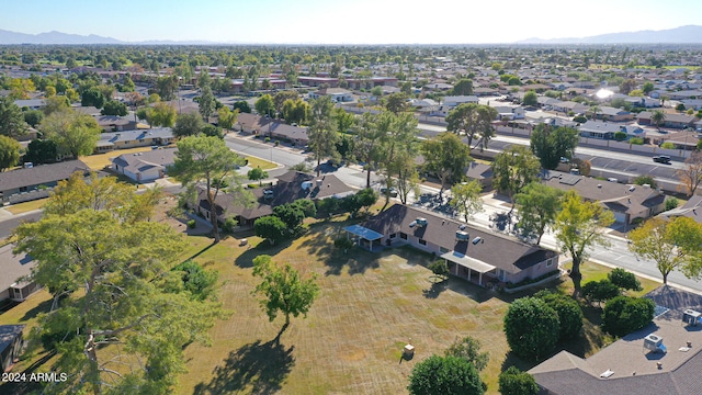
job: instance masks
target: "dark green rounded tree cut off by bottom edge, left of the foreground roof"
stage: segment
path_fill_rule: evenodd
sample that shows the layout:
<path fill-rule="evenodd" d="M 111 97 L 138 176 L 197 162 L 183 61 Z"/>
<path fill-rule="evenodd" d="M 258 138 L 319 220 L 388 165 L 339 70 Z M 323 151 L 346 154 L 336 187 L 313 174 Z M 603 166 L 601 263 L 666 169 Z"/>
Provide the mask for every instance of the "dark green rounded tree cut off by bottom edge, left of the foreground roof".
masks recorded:
<path fill-rule="evenodd" d="M 483 395 L 475 366 L 463 358 L 431 356 L 412 368 L 407 386 L 411 395 Z"/>

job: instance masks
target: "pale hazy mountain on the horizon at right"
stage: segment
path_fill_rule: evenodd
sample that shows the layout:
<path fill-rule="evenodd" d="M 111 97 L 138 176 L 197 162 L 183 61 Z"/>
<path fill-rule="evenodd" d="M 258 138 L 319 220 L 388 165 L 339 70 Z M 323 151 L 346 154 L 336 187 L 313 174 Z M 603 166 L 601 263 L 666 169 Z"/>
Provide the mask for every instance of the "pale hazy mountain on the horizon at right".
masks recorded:
<path fill-rule="evenodd" d="M 526 38 L 516 44 L 702 44 L 702 26 L 609 33 L 581 38 Z"/>

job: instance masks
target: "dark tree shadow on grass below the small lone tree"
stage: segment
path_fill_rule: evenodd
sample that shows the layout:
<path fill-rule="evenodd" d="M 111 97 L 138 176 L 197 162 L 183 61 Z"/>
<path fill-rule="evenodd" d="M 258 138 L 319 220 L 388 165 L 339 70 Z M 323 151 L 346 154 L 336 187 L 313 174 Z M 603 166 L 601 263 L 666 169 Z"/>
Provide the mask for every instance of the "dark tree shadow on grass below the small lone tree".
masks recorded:
<path fill-rule="evenodd" d="M 194 394 L 272 394 L 280 391 L 295 364 L 295 347 L 285 349 L 280 343 L 280 335 L 265 343 L 257 340 L 229 352 L 224 363 L 215 368 L 210 383 L 197 384 Z"/>

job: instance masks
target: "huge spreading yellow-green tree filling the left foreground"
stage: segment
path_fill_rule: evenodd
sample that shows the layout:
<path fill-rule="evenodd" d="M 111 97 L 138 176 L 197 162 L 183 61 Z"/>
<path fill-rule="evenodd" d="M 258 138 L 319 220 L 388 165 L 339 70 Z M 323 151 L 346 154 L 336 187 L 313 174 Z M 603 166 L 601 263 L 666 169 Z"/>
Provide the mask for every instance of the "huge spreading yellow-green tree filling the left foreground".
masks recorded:
<path fill-rule="evenodd" d="M 173 229 L 155 222 L 126 224 L 88 208 L 45 215 L 14 234 L 15 251 L 37 262 L 34 281 L 70 293 L 58 308 L 38 316 L 35 329 L 57 350 L 53 371 L 67 373 L 49 392 L 173 391 L 185 371 L 184 346 L 206 342 L 206 331 L 222 316 L 213 303 L 168 292 L 174 279 L 169 269 L 184 247 Z"/>

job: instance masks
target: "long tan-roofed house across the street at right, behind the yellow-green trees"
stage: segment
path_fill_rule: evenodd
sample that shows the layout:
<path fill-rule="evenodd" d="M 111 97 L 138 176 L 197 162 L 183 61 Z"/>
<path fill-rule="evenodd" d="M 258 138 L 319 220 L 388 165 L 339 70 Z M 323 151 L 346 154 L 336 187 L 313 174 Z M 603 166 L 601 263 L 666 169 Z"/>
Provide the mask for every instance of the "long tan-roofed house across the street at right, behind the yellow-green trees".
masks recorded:
<path fill-rule="evenodd" d="M 645 219 L 665 208 L 666 195 L 647 185 L 626 185 L 553 170 L 545 172 L 543 183 L 562 191 L 575 190 L 586 201 L 600 202 L 619 223 Z"/>

